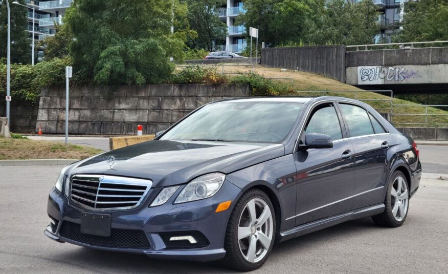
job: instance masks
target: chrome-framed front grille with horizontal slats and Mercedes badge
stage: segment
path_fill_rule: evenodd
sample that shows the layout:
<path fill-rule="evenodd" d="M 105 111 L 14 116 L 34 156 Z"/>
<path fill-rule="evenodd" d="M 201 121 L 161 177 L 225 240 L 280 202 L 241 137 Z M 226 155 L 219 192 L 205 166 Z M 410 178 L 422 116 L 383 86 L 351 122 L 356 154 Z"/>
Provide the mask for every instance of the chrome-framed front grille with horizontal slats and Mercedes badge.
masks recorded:
<path fill-rule="evenodd" d="M 152 186 L 151 180 L 108 175 L 75 175 L 70 184 L 73 203 L 94 211 L 136 208 Z"/>

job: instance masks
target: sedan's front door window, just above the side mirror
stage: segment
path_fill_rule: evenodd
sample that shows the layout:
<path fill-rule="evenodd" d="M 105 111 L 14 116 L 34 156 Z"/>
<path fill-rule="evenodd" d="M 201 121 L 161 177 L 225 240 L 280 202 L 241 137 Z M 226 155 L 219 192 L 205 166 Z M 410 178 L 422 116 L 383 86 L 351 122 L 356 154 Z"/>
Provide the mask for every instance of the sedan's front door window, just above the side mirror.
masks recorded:
<path fill-rule="evenodd" d="M 333 140 L 342 139 L 341 125 L 334 107 L 326 106 L 317 110 L 306 125 L 306 133 L 321 133 L 330 135 Z"/>

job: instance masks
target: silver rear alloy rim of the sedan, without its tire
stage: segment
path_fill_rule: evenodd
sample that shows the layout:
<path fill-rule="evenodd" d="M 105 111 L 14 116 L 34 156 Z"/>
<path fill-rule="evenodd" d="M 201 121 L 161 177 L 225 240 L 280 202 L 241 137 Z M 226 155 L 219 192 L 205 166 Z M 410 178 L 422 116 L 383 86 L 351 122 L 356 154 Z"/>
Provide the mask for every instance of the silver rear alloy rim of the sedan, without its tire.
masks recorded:
<path fill-rule="evenodd" d="M 409 194 L 405 178 L 398 176 L 391 189 L 392 215 L 396 221 L 401 222 L 408 212 Z"/>

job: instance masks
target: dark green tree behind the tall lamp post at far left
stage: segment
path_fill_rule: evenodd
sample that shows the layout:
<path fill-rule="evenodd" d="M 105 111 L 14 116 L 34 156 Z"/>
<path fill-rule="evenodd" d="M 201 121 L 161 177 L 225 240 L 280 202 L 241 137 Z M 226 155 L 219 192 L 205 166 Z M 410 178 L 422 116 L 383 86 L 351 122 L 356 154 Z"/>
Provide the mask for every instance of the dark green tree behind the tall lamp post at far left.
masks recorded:
<path fill-rule="evenodd" d="M 18 0 L 25 5 L 25 0 Z M 31 63 L 31 43 L 27 31 L 28 9 L 9 3 L 11 17 L 11 62 L 30 64 Z M 7 57 L 7 35 L 8 35 L 8 13 L 6 3 L 0 6 L 0 57 Z"/>

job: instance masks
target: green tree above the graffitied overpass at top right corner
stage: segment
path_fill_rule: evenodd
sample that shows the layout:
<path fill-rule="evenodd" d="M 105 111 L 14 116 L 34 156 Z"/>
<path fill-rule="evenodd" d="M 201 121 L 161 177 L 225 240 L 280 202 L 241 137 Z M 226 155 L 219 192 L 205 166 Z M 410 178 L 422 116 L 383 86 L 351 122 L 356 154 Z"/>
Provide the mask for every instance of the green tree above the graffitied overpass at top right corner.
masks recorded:
<path fill-rule="evenodd" d="M 405 4 L 400 42 L 448 40 L 448 0 L 419 0 Z"/>

